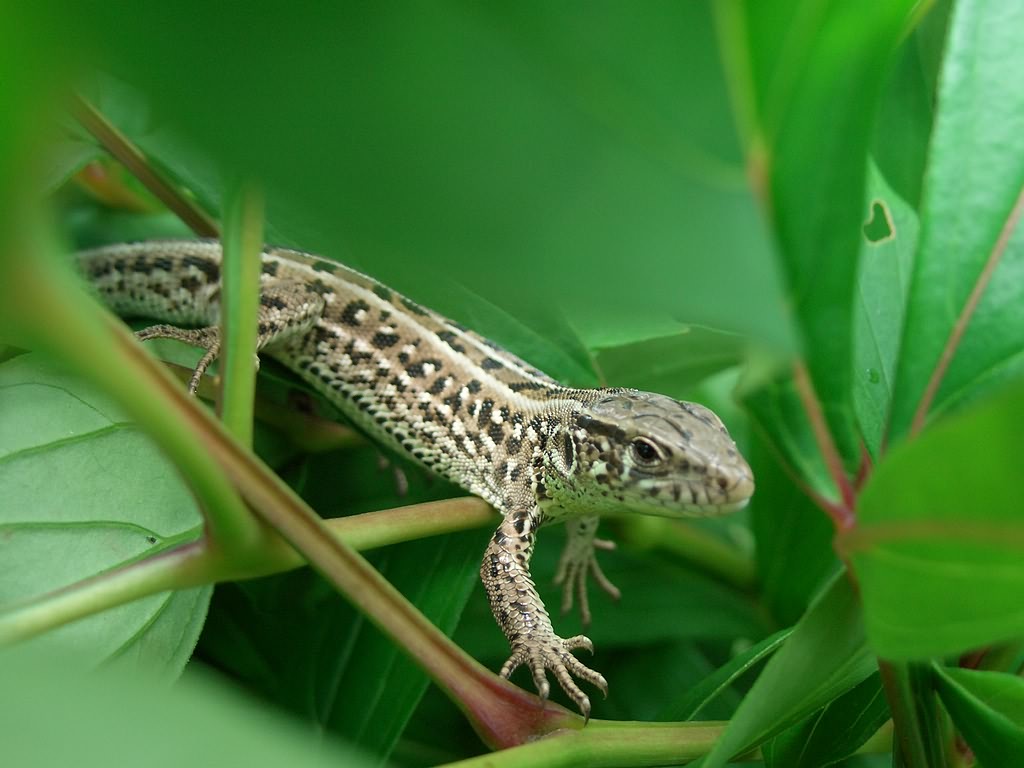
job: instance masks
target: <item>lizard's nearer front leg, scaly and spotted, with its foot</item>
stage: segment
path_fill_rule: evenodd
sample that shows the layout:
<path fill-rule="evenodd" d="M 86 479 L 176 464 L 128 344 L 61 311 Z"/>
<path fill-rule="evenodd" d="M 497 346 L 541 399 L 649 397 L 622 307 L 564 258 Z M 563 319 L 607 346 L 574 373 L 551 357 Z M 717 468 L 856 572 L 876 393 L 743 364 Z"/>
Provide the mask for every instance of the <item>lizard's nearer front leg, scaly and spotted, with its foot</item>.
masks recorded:
<path fill-rule="evenodd" d="M 584 718 L 589 719 L 590 698 L 577 685 L 573 676 L 592 683 L 605 694 L 608 684 L 600 673 L 572 655 L 579 648 L 593 652 L 590 639 L 584 635 L 565 639 L 556 635 L 534 586 L 529 560 L 534 554 L 535 530 L 542 520 L 536 505 L 506 514 L 487 545 L 480 566 L 490 611 L 512 647 L 512 655 L 502 667 L 501 675 L 507 678 L 520 665 L 525 665 L 534 676 L 538 692 L 546 698 L 551 690 L 547 670 L 551 670 L 562 690 L 575 701 Z"/>

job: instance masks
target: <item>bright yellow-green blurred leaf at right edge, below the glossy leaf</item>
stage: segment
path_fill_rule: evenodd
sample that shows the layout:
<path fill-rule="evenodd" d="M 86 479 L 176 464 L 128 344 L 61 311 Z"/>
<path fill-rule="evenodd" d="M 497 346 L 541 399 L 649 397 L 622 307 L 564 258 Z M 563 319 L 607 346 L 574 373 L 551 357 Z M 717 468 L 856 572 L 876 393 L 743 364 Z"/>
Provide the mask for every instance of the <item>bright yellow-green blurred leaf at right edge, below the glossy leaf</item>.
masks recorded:
<path fill-rule="evenodd" d="M 890 452 L 863 489 L 853 556 L 867 636 L 923 658 L 1024 635 L 1024 386 Z"/>

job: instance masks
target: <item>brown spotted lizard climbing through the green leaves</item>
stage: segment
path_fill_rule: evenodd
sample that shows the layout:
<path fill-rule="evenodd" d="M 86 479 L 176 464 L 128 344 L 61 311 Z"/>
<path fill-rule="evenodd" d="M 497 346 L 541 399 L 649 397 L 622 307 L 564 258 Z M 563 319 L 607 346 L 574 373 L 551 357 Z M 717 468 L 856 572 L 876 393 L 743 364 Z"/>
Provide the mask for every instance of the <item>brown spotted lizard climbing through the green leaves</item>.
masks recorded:
<path fill-rule="evenodd" d="M 668 517 L 744 506 L 754 476 L 721 420 L 693 402 L 623 387 L 572 388 L 498 344 L 338 262 L 264 248 L 257 348 L 294 371 L 353 425 L 490 504 L 501 522 L 480 578 L 508 639 L 508 678 L 525 666 L 542 698 L 550 671 L 586 719 L 577 679 L 607 682 L 572 651 L 585 635 L 555 633 L 529 570 L 538 529 L 565 522 L 556 582 L 563 611 L 579 596 L 590 620 L 593 574 L 612 596 L 595 549 L 599 517 Z M 80 252 L 80 271 L 123 316 L 161 325 L 141 340 L 172 338 L 204 350 L 189 382 L 220 352 L 221 247 L 147 241 Z"/>

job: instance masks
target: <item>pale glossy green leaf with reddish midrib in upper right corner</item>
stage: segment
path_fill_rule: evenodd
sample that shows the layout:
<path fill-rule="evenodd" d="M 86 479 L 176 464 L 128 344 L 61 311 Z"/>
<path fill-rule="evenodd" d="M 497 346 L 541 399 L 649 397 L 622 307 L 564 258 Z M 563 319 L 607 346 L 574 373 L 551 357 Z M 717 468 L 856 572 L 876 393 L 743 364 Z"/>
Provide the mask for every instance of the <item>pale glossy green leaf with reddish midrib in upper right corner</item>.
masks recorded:
<path fill-rule="evenodd" d="M 922 203 L 892 436 L 910 427 L 957 318 L 994 265 L 930 413 L 991 391 L 1024 370 L 1024 5 L 957 3 L 949 23 Z M 1005 243 L 997 246 L 1000 237 Z M 999 248 L 1005 250 L 999 255 Z"/>

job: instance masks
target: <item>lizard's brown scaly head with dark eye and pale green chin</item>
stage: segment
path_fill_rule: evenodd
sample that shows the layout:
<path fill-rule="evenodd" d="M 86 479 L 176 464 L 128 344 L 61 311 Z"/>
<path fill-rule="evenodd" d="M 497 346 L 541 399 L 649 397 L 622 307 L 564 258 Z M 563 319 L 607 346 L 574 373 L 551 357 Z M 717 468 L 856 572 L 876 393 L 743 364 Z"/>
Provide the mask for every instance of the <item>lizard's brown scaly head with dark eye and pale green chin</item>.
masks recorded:
<path fill-rule="evenodd" d="M 754 474 L 709 409 L 665 395 L 616 390 L 569 417 L 573 461 L 553 502 L 595 511 L 669 517 L 745 506 Z"/>

